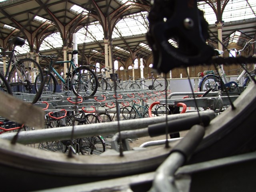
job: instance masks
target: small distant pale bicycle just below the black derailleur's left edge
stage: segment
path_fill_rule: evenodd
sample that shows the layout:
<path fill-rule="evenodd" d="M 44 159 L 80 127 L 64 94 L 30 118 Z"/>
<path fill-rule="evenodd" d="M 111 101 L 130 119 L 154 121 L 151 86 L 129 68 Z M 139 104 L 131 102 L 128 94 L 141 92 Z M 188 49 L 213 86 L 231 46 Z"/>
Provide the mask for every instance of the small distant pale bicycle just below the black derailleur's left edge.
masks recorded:
<path fill-rule="evenodd" d="M 151 76 L 148 78 L 139 78 L 135 80 L 135 83 L 138 84 L 139 89 L 143 88 L 144 86 L 147 87 L 149 90 L 158 90 L 158 91 L 164 91 L 168 87 L 168 81 L 166 78 L 159 76 L 154 78 L 154 72 L 150 72 Z M 151 79 L 151 84 L 147 85 L 146 80 Z M 138 81 L 138 83 L 137 83 Z"/>

